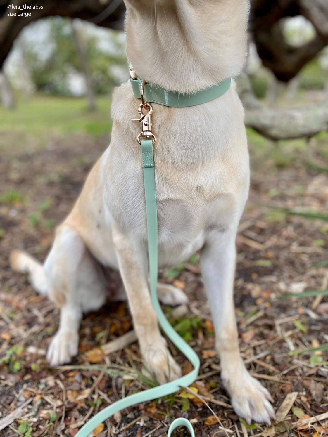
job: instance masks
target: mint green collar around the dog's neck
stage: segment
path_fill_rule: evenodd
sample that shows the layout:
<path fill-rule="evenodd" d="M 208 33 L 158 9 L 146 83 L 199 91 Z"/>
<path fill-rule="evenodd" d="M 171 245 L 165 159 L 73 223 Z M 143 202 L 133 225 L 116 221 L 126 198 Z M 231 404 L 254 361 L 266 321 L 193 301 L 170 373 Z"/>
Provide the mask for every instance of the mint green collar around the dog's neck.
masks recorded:
<path fill-rule="evenodd" d="M 133 94 L 135 97 L 141 98 L 140 87 L 142 80 L 139 77 L 130 79 Z M 206 88 L 206 90 L 199 91 L 195 94 L 180 94 L 174 91 L 164 90 L 151 83 L 146 83 L 144 88 L 144 95 L 146 102 L 158 103 L 164 106 L 173 106 L 174 108 L 185 108 L 187 106 L 200 105 L 209 102 L 222 96 L 230 88 L 231 79 L 223 80 L 222 82 L 213 85 L 213 87 Z"/>

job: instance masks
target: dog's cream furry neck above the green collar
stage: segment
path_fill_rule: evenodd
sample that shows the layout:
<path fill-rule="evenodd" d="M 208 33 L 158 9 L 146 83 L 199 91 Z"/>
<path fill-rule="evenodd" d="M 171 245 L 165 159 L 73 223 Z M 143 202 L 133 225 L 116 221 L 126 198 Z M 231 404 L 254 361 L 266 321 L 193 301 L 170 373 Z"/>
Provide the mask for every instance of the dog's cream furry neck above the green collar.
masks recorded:
<path fill-rule="evenodd" d="M 248 0 L 125 0 L 127 55 L 137 76 L 194 93 L 237 76 Z"/>

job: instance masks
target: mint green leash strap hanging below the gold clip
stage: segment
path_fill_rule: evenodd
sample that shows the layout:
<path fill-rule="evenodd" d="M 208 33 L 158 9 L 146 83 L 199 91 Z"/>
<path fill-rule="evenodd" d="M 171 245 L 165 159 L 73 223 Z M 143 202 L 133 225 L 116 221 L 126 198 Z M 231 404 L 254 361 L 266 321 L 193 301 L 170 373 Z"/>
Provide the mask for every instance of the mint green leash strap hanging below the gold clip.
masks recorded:
<path fill-rule="evenodd" d="M 178 378 L 175 381 L 167 382 L 158 387 L 144 390 L 143 392 L 135 393 L 114 402 L 112 405 L 101 410 L 98 414 L 92 417 L 76 434 L 76 437 L 87 437 L 95 427 L 104 422 L 114 413 L 121 411 L 124 408 L 147 402 L 163 396 L 171 395 L 178 392 L 181 386 L 188 386 L 195 382 L 199 372 L 199 357 L 192 348 L 179 336 L 167 321 L 161 309 L 161 305 L 157 299 L 157 275 L 158 275 L 158 238 L 157 238 L 157 206 L 156 206 L 156 191 L 155 191 L 155 171 L 154 171 L 154 152 L 152 140 L 141 140 L 141 156 L 143 164 L 143 182 L 145 187 L 146 198 L 146 214 L 147 214 L 147 234 L 148 234 L 148 258 L 150 271 L 150 295 L 154 309 L 157 314 L 158 322 L 164 333 L 174 343 L 179 350 L 183 352 L 185 357 L 192 363 L 194 369 L 185 376 Z M 195 433 L 192 424 L 185 418 L 175 419 L 167 432 L 167 437 L 170 437 L 173 430 L 177 427 L 185 426 L 192 437 Z"/>

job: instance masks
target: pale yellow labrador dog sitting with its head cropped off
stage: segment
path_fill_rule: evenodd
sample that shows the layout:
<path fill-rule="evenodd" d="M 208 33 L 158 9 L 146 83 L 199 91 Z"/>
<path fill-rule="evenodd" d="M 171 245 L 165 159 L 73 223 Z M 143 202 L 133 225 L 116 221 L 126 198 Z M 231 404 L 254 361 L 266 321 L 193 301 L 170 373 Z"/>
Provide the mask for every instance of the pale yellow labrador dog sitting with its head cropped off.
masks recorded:
<path fill-rule="evenodd" d="M 164 89 L 195 93 L 240 73 L 246 53 L 247 0 L 125 0 L 127 54 L 138 77 Z M 139 126 L 140 101 L 129 82 L 113 97 L 112 140 L 91 170 L 73 211 L 56 230 L 43 266 L 15 251 L 11 264 L 60 307 L 49 346 L 52 365 L 77 354 L 83 312 L 105 301 L 104 267 L 119 269 L 146 366 L 159 382 L 177 378 L 150 302 L 147 224 Z M 243 108 L 234 81 L 223 96 L 189 108 L 154 104 L 159 267 L 200 253 L 213 315 L 222 380 L 248 422 L 270 423 L 269 392 L 246 370 L 238 349 L 233 285 L 237 225 L 248 196 Z M 101 267 L 102 266 L 102 267 Z M 162 302 L 187 298 L 158 284 Z"/>

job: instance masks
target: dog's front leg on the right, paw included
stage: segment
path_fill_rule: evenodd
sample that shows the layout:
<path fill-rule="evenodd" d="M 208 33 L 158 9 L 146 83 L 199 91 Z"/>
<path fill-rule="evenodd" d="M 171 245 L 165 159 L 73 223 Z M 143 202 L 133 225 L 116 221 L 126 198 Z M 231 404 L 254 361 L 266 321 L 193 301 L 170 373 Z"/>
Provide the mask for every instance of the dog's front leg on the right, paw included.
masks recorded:
<path fill-rule="evenodd" d="M 212 231 L 200 255 L 220 356 L 221 377 L 235 412 L 248 423 L 270 423 L 274 410 L 268 390 L 249 375 L 241 359 L 234 312 L 233 286 L 236 230 Z"/>

